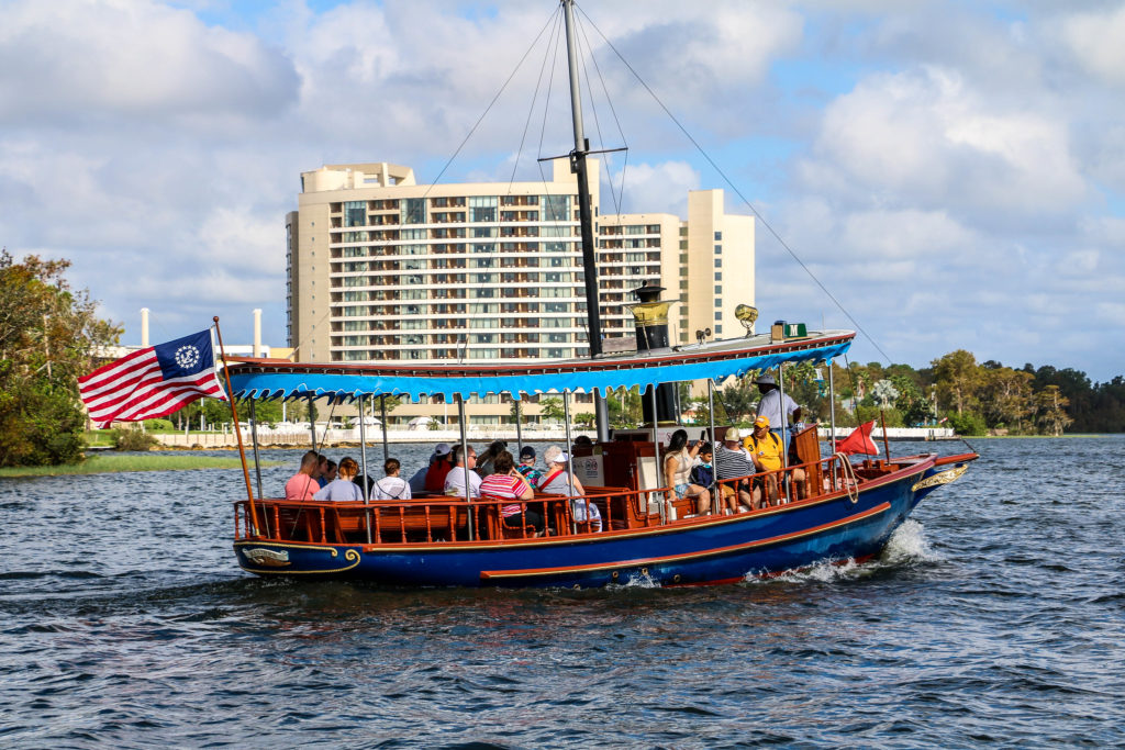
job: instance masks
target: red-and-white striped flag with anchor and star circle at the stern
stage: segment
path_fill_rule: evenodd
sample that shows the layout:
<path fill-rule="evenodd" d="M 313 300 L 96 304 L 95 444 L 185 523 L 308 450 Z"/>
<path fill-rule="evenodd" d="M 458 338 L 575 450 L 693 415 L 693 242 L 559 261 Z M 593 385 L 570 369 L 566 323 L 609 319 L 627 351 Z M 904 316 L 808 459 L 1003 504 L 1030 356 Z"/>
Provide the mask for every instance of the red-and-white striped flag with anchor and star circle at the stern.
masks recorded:
<path fill-rule="evenodd" d="M 204 396 L 227 400 L 210 328 L 102 365 L 79 378 L 78 389 L 97 425 L 162 417 Z"/>

